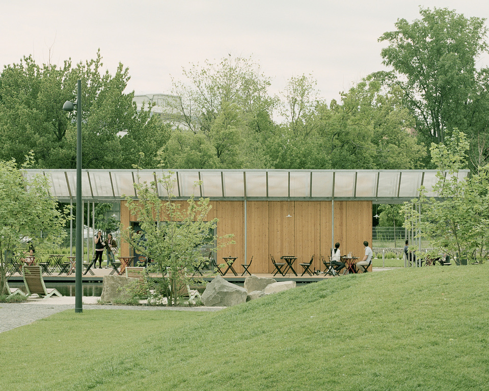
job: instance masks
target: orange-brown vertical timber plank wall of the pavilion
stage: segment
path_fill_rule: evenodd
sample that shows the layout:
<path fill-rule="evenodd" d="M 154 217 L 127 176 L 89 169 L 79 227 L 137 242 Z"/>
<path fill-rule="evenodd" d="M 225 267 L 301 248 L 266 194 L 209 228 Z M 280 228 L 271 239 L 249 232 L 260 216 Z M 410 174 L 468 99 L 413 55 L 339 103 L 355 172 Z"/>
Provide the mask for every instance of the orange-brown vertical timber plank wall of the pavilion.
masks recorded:
<path fill-rule="evenodd" d="M 185 202 L 181 202 L 185 204 Z M 218 236 L 234 234 L 235 244 L 219 250 L 216 260 L 232 255 L 238 257 L 234 268 L 242 273 L 244 263 L 244 202 L 212 201 L 208 219 L 217 217 Z M 248 201 L 247 202 L 247 263 L 253 256 L 252 273 L 271 273 L 274 266 L 270 254 L 279 262 L 282 255 L 295 255 L 294 268 L 300 275 L 299 263 L 309 262 L 314 254 L 313 267 L 324 270 L 320 260 L 328 259 L 331 242 L 331 201 Z M 335 237 L 341 254 L 351 252 L 363 258 L 363 241 L 372 242 L 372 203 L 369 201 L 335 201 Z M 290 214 L 292 217 L 286 217 Z M 134 218 L 134 216 L 132 216 Z M 121 221 L 124 227 L 132 220 L 125 202 L 121 202 Z M 127 243 L 121 244 L 121 255 L 129 255 Z"/>

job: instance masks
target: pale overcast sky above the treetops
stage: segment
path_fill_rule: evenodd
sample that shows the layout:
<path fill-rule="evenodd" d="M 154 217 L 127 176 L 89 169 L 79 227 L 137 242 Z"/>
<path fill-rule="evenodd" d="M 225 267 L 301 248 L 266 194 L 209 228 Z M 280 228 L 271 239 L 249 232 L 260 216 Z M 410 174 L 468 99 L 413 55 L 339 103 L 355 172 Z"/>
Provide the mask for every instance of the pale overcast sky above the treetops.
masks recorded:
<path fill-rule="evenodd" d="M 0 67 L 29 54 L 38 64 L 75 64 L 100 48 L 111 74 L 119 62 L 129 67 L 129 91 L 170 93 L 170 75 L 183 79 L 182 67 L 230 53 L 252 56 L 272 93 L 312 74 L 330 101 L 385 69 L 378 37 L 398 18 L 420 18 L 419 5 L 489 18 L 482 0 L 0 0 Z"/>

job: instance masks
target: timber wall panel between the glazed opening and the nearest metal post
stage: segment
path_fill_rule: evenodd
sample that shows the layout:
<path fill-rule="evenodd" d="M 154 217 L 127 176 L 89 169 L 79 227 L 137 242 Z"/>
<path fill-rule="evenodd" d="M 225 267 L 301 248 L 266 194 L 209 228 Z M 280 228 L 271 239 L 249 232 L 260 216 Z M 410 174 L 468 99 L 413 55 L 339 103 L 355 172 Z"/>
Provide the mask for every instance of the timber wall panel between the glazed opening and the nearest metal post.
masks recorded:
<path fill-rule="evenodd" d="M 248 206 L 248 205 L 247 205 Z M 233 267 L 239 274 L 242 273 L 241 264 L 244 263 L 244 202 L 243 201 L 216 201 L 217 234 L 224 236 L 234 234 L 234 244 L 218 248 L 216 262 L 224 262 L 223 257 L 237 257 Z M 226 239 L 225 239 L 226 240 Z M 222 241 L 218 240 L 218 246 Z"/>

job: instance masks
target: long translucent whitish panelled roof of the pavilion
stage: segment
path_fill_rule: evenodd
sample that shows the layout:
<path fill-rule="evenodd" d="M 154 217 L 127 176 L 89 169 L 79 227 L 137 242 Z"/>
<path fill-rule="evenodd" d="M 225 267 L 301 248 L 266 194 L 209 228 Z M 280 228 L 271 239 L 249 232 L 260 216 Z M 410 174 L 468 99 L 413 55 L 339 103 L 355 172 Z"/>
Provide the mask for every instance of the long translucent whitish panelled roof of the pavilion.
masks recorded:
<path fill-rule="evenodd" d="M 137 198 L 135 183 L 170 178 L 158 183 L 158 196 L 211 200 L 368 200 L 402 203 L 419 196 L 423 185 L 429 197 L 436 170 L 82 170 L 82 199 L 119 202 Z M 24 170 L 25 176 L 42 174 L 60 202 L 76 198 L 76 170 Z M 459 180 L 469 170 L 458 173 Z M 168 191 L 167 191 L 168 188 Z"/>

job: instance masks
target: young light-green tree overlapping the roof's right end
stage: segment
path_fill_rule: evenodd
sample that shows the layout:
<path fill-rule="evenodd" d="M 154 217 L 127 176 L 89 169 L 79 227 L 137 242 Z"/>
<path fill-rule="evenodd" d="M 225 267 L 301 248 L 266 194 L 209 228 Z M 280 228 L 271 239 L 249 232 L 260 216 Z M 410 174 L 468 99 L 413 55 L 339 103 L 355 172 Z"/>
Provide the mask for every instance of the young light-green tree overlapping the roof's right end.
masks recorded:
<path fill-rule="evenodd" d="M 436 252 L 441 250 L 452 258 L 458 254 L 482 261 L 489 254 L 486 246 L 489 165 L 479 167 L 477 174 L 460 180 L 458 171 L 466 164 L 468 148 L 466 135 L 458 130 L 453 132 L 447 145 L 431 145 L 431 156 L 438 167 L 438 181 L 433 190 L 439 199 L 426 197 L 426 190 L 421 188 L 419 199 L 403 207 L 404 227 L 410 229 L 413 224 L 419 228 L 418 237 L 427 238 Z"/>

